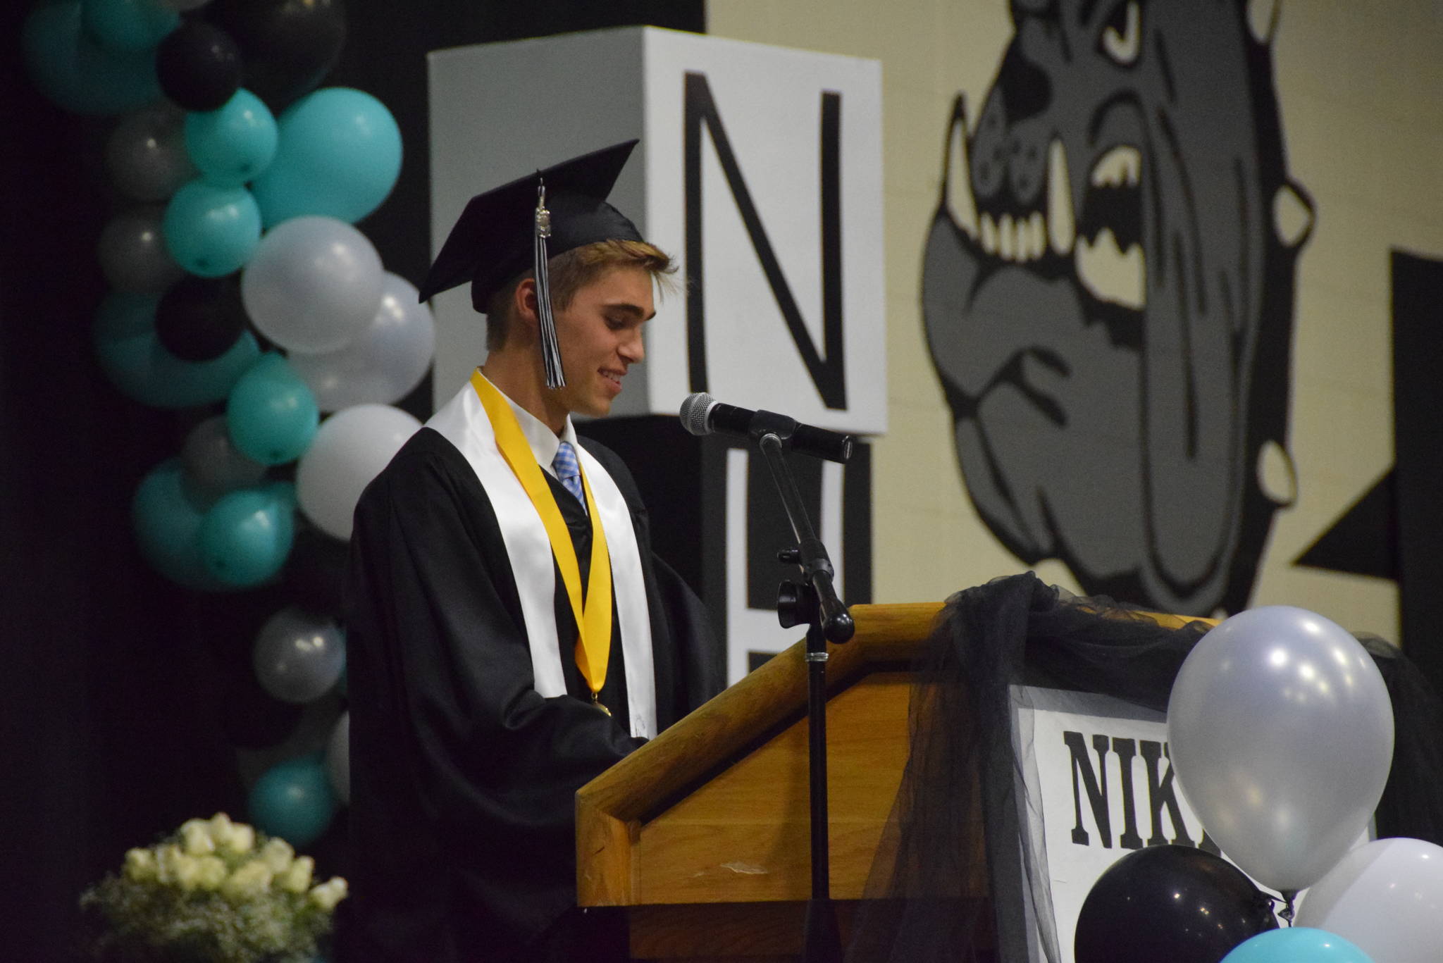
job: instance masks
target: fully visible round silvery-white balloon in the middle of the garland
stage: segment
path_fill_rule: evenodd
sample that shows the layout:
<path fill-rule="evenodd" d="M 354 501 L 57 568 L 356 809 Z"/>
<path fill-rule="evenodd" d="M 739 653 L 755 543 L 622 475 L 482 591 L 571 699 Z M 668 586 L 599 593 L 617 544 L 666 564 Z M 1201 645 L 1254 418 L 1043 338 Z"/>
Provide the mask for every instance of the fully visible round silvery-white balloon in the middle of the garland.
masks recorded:
<path fill-rule="evenodd" d="M 281 348 L 336 351 L 375 318 L 384 274 L 375 247 L 345 221 L 291 218 L 255 245 L 241 302 L 257 331 Z"/>

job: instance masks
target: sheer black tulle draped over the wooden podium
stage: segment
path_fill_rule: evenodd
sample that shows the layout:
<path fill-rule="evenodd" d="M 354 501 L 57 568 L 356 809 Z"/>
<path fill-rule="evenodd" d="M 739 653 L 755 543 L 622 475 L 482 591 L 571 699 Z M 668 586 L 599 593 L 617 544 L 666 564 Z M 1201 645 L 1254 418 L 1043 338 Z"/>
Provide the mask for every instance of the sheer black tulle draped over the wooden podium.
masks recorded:
<path fill-rule="evenodd" d="M 848 963 L 1026 963 L 1052 934 L 1046 881 L 1022 858 L 1010 686 L 1091 692 L 1166 712 L 1206 624 L 1163 628 L 1107 598 L 1025 573 L 954 595 L 912 692 L 912 748 L 847 950 Z M 1392 697 L 1392 771 L 1380 836 L 1443 845 L 1443 703 L 1390 642 L 1359 635 Z M 978 899 L 987 891 L 990 899 Z"/>

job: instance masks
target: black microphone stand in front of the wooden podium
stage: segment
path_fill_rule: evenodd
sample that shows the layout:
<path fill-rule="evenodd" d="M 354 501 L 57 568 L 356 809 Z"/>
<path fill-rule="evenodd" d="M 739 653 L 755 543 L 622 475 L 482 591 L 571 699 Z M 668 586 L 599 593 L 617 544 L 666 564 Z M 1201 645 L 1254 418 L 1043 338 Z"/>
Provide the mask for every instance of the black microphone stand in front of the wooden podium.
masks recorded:
<path fill-rule="evenodd" d="M 802 582 L 784 580 L 776 591 L 776 618 L 782 628 L 807 625 L 807 723 L 811 788 L 811 899 L 802 930 L 802 963 L 840 963 L 841 936 L 831 902 L 831 863 L 827 839 L 827 642 L 851 638 L 854 624 L 833 588 L 834 570 L 827 546 L 817 537 L 797 479 L 786 465 L 786 440 L 797 422 L 771 411 L 758 411 L 750 435 L 766 458 L 776 492 L 792 526 L 797 547 L 784 549 L 778 559 L 801 567 Z"/>

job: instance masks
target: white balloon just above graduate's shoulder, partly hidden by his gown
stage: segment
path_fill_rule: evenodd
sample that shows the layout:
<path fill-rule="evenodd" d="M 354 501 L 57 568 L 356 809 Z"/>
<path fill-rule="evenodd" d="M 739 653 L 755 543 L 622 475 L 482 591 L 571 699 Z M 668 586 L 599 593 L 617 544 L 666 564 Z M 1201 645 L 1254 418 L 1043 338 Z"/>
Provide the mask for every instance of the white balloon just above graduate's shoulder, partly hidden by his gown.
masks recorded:
<path fill-rule="evenodd" d="M 326 534 L 349 539 L 361 492 L 418 427 L 388 404 L 356 404 L 328 417 L 296 465 L 300 510 Z"/>

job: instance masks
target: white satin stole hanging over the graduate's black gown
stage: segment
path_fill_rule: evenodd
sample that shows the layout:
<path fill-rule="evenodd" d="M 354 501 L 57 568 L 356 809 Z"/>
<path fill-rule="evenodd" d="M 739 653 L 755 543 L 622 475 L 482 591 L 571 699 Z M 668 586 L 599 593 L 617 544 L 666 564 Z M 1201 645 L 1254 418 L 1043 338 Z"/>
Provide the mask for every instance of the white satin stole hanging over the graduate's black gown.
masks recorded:
<path fill-rule="evenodd" d="M 531 645 L 532 684 L 547 699 L 564 696 L 551 541 L 541 515 L 496 448 L 491 419 L 486 417 L 476 390 L 468 383 L 426 426 L 456 446 L 486 489 L 511 560 L 517 595 L 521 596 L 521 615 Z M 633 736 L 649 739 L 657 735 L 657 677 L 651 660 L 651 618 L 636 530 L 632 527 L 626 500 L 602 463 L 582 446 L 576 448 L 576 456 L 592 485 L 592 498 L 600 513 L 606 550 L 612 559 L 612 591 L 622 632 L 629 729 Z"/>

